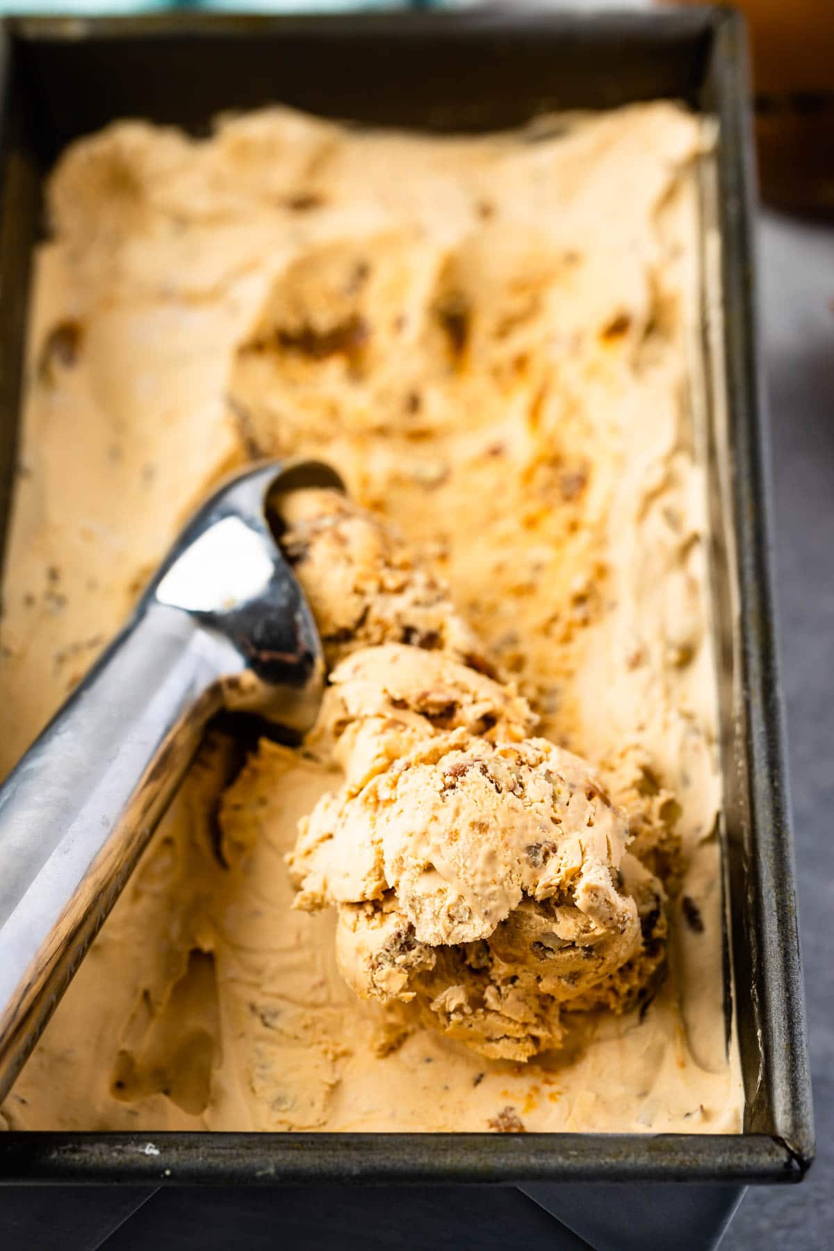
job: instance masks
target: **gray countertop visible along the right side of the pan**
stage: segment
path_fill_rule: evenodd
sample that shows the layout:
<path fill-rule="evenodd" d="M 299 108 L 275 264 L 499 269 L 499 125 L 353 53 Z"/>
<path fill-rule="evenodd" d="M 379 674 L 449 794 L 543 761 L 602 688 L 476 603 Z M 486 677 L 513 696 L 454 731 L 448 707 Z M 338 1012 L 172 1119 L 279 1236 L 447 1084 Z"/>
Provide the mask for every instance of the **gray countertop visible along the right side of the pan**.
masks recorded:
<path fill-rule="evenodd" d="M 759 263 L 816 1161 L 801 1186 L 749 1190 L 721 1251 L 823 1251 L 834 1223 L 834 225 L 765 213 Z"/>

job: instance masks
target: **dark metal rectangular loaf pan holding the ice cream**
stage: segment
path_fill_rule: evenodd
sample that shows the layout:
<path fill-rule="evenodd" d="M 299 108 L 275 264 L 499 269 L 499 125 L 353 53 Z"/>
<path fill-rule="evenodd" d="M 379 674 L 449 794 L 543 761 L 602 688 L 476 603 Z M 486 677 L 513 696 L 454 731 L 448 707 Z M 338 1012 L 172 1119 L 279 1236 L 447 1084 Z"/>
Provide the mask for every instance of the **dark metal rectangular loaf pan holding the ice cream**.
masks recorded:
<path fill-rule="evenodd" d="M 431 130 L 561 108 L 678 98 L 720 128 L 705 216 L 709 477 L 726 859 L 745 1116 L 739 1136 L 5 1133 L 0 1178 L 300 1182 L 796 1181 L 813 1156 L 793 846 L 773 633 L 766 432 L 754 315 L 754 175 L 744 28 L 719 9 L 458 15 L 36 20 L 4 24 L 0 165 L 0 515 L 14 478 L 30 259 L 41 189 L 76 135 L 143 116 L 205 130 L 281 100 Z M 708 203 L 709 201 L 709 203 Z M 706 234 L 705 234 L 706 239 Z"/>

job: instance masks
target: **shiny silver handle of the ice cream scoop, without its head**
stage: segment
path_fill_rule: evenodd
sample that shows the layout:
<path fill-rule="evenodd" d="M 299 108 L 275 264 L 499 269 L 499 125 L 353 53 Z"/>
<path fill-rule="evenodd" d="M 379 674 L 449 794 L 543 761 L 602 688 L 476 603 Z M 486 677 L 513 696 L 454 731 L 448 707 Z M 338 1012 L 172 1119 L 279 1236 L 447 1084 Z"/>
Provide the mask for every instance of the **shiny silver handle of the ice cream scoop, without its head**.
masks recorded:
<path fill-rule="evenodd" d="M 183 778 L 224 641 L 149 603 L 0 788 L 0 1102 Z"/>

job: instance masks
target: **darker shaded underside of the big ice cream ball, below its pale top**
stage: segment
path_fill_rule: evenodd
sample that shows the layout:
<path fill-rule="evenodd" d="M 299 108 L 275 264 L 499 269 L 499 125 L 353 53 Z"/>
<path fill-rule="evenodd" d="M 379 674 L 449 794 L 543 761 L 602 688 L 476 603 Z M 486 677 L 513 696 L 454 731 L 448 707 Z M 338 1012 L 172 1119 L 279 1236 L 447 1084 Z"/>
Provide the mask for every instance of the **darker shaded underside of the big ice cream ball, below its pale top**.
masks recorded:
<path fill-rule="evenodd" d="M 339 906 L 339 967 L 360 998 L 414 1003 L 426 1025 L 484 1056 L 529 1060 L 563 1043 L 565 1010 L 621 1012 L 656 988 L 663 888 L 628 852 L 621 866 L 629 886 L 639 878 L 639 936 L 629 917 L 621 933 L 593 943 L 581 909 L 524 898 L 485 940 L 431 946 L 389 891 Z"/>

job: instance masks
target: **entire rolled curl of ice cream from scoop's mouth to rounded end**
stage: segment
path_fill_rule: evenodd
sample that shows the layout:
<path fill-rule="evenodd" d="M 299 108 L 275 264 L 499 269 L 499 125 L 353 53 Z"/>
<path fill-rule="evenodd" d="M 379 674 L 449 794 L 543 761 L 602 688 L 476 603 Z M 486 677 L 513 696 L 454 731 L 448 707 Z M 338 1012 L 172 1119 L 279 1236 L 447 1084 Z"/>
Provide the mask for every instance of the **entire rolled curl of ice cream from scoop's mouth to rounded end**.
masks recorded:
<path fill-rule="evenodd" d="M 288 861 L 296 907 L 338 909 L 348 983 L 509 1060 L 558 1047 L 566 1008 L 633 1006 L 664 892 L 593 766 L 529 737 L 513 686 L 456 658 L 489 663 L 390 528 L 330 492 L 291 510 L 286 550 L 344 657 L 314 738 L 345 781 Z"/>

